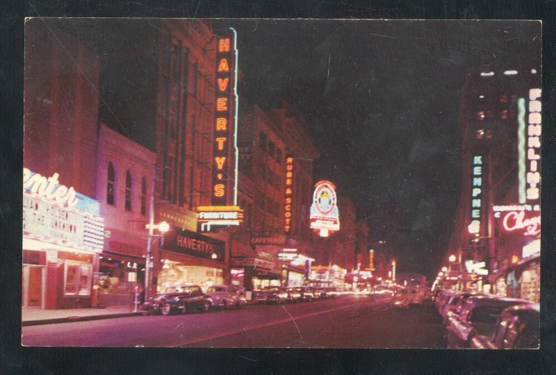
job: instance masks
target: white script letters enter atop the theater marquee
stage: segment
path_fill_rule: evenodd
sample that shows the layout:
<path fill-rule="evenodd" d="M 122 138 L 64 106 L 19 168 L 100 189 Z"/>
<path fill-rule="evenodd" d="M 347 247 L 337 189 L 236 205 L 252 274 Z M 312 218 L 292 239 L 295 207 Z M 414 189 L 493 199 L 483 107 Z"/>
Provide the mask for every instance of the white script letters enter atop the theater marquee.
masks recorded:
<path fill-rule="evenodd" d="M 58 204 L 65 204 L 68 207 L 75 207 L 79 199 L 75 196 L 74 188 L 67 188 L 58 182 L 59 174 L 55 173 L 46 178 L 38 173 L 31 174 L 28 168 L 23 169 L 23 189 L 24 192 L 37 194 Z M 57 185 L 57 186 L 56 186 Z"/>

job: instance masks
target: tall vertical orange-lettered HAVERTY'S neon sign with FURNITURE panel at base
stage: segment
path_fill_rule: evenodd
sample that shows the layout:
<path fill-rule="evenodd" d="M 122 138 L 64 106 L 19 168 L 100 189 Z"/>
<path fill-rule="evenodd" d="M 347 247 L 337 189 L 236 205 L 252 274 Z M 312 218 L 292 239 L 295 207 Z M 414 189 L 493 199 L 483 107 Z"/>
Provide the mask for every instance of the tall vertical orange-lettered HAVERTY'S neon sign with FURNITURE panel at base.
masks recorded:
<path fill-rule="evenodd" d="M 215 226 L 239 225 L 243 210 L 238 201 L 238 50 L 234 28 L 217 33 L 215 117 L 211 206 L 197 207 L 199 231 Z"/>

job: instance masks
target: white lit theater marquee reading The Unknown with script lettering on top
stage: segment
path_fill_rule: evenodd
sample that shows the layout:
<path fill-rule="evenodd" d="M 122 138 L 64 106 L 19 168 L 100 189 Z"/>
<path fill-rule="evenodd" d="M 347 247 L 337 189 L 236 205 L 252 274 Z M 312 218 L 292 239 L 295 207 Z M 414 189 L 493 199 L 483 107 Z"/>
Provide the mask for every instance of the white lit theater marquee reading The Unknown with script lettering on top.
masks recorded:
<path fill-rule="evenodd" d="M 23 169 L 23 237 L 101 252 L 104 218 L 100 203 L 58 182 Z"/>

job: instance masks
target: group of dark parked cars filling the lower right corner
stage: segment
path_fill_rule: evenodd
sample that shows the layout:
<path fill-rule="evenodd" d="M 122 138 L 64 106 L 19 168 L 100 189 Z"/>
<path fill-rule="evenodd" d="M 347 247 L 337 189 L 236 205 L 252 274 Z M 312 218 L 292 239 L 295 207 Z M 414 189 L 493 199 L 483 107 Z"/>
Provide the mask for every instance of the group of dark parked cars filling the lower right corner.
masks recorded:
<path fill-rule="evenodd" d="M 436 290 L 434 301 L 450 348 L 539 347 L 539 303 L 453 290 Z"/>

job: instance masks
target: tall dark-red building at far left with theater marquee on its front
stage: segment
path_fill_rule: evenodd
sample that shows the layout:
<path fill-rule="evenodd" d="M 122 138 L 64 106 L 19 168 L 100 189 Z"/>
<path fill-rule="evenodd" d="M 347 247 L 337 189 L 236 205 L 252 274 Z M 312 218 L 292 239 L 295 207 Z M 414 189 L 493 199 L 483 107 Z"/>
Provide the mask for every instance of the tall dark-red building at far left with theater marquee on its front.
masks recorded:
<path fill-rule="evenodd" d="M 56 19 L 31 19 L 25 31 L 22 307 L 89 307 L 104 234 L 94 199 L 99 57 Z"/>

